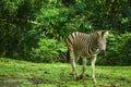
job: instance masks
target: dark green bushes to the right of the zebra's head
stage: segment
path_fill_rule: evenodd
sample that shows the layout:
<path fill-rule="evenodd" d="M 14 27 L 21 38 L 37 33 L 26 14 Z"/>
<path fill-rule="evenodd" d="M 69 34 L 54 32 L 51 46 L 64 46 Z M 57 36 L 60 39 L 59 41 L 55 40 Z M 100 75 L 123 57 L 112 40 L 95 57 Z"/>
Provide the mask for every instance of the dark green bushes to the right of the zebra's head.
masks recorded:
<path fill-rule="evenodd" d="M 98 63 L 105 65 L 130 65 L 131 33 L 110 33 L 107 41 L 107 55 L 99 58 Z"/>

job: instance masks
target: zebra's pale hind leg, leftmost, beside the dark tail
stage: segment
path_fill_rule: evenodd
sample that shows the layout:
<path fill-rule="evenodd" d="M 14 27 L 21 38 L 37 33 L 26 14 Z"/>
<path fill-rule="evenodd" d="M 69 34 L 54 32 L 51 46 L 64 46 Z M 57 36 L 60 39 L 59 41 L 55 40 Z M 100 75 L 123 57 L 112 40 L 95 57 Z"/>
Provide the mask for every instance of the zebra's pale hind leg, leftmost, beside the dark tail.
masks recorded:
<path fill-rule="evenodd" d="M 70 50 L 70 58 L 71 58 L 71 66 L 72 66 L 72 73 L 71 75 L 74 76 L 74 78 L 78 77 L 76 70 L 75 70 L 75 57 L 73 50 Z"/>

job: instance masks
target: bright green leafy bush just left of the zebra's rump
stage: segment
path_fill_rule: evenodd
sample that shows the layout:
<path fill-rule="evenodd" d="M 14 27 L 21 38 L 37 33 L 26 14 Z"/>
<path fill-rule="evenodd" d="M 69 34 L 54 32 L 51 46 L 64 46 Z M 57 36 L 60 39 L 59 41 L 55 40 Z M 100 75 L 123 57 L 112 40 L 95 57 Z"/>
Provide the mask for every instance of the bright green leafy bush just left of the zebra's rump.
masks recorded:
<path fill-rule="evenodd" d="M 64 42 L 56 39 L 40 38 L 37 48 L 33 48 L 32 60 L 35 62 L 57 62 L 60 60 L 59 53 L 66 52 Z"/>

